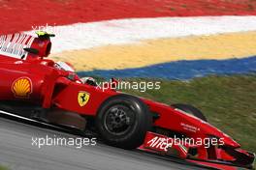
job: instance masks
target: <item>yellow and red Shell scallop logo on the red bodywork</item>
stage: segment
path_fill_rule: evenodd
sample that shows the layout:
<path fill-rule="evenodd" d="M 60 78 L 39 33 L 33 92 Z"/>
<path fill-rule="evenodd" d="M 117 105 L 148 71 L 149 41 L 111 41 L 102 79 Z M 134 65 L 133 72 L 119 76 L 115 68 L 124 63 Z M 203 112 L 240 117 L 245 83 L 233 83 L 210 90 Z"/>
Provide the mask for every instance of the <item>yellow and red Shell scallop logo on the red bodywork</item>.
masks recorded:
<path fill-rule="evenodd" d="M 32 83 L 28 77 L 20 77 L 15 80 L 12 86 L 12 92 L 16 98 L 29 98 L 32 93 Z"/>

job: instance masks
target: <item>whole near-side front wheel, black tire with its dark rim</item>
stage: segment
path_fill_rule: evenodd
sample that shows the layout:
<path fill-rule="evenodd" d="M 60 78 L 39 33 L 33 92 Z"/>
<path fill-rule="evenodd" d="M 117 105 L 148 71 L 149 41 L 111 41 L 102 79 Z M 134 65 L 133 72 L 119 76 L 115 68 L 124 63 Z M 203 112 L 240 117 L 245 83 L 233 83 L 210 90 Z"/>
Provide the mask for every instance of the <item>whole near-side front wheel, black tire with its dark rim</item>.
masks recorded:
<path fill-rule="evenodd" d="M 96 127 L 103 140 L 123 149 L 141 146 L 151 125 L 152 115 L 147 106 L 141 99 L 129 95 L 107 99 L 96 117 Z"/>

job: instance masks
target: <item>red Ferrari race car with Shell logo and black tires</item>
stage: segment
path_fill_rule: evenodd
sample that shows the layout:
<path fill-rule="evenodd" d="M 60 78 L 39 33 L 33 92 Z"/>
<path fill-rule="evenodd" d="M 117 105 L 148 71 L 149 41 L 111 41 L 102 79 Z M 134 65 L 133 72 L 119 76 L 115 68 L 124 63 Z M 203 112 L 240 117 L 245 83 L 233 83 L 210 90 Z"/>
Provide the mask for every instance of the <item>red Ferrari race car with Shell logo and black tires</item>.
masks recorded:
<path fill-rule="evenodd" d="M 46 59 L 54 35 L 37 34 L 0 37 L 1 110 L 80 131 L 94 129 L 104 142 L 123 149 L 220 169 L 252 168 L 255 155 L 209 125 L 197 108 L 123 94 L 111 88 L 115 80 L 103 90 L 71 65 Z"/>

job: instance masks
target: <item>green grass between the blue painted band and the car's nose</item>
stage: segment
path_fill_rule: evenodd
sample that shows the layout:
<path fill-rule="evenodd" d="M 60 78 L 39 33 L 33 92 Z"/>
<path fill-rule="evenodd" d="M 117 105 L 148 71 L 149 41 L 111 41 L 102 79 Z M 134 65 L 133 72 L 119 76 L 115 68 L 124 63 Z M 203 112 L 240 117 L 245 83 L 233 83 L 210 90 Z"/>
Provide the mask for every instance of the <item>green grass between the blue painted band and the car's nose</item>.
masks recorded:
<path fill-rule="evenodd" d="M 210 124 L 232 136 L 242 148 L 256 153 L 256 74 L 161 82 L 160 90 L 126 92 L 168 104 L 192 104 L 204 112 Z"/>

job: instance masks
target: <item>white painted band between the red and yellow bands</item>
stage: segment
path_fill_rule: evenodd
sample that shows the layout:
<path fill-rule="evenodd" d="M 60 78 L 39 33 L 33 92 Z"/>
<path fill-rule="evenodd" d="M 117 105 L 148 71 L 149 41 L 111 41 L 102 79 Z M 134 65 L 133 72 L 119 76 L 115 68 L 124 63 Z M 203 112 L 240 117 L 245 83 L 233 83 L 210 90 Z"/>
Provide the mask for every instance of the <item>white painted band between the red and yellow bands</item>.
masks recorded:
<path fill-rule="evenodd" d="M 255 31 L 256 16 L 132 18 L 45 27 L 45 30 L 56 34 L 52 53 L 59 53 L 150 39 Z"/>

